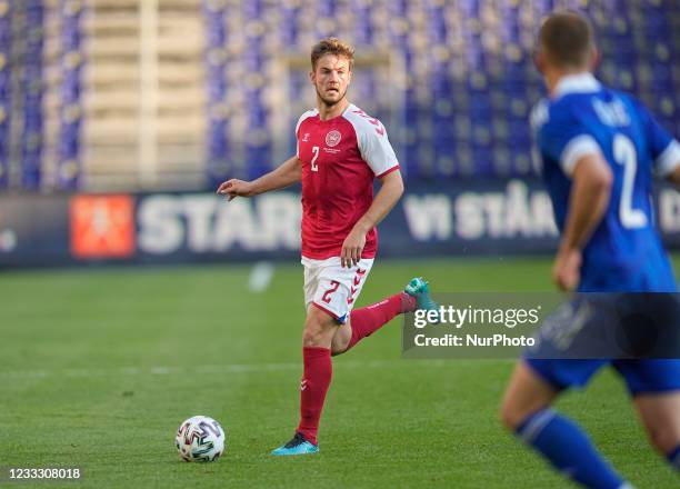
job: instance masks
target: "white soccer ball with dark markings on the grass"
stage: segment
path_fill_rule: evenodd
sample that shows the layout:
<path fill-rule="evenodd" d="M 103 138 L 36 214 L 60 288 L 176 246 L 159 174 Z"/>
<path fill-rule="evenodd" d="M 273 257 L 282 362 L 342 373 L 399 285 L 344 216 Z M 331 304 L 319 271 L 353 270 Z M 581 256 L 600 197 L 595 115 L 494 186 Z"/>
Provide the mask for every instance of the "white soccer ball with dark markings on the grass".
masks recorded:
<path fill-rule="evenodd" d="M 194 416 L 177 430 L 174 445 L 188 462 L 213 462 L 224 451 L 224 430 L 214 419 Z"/>

